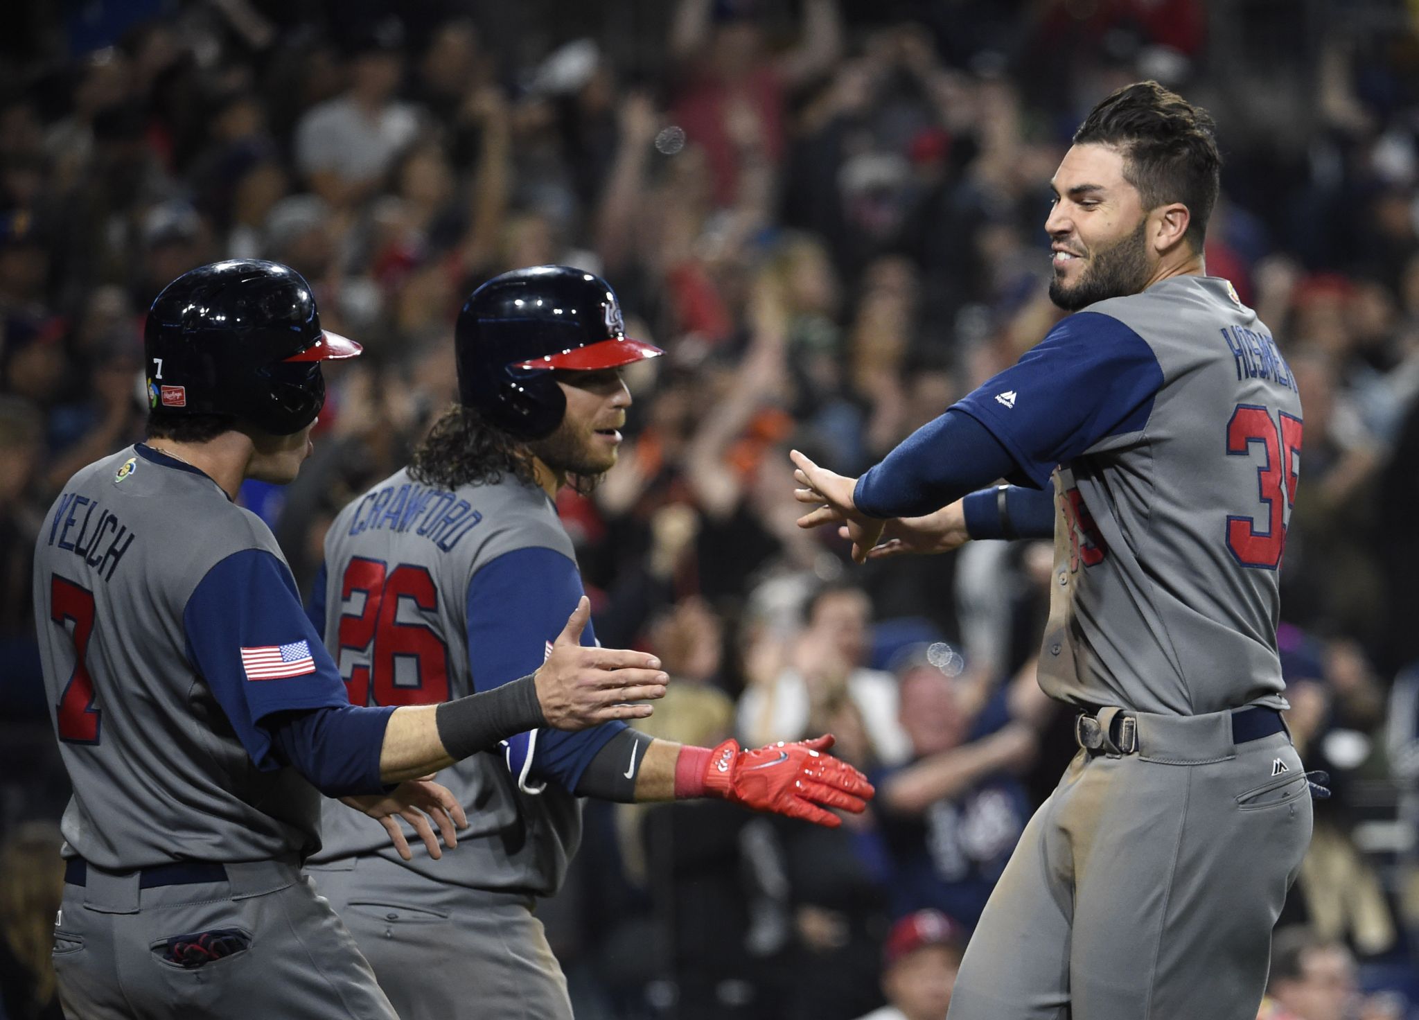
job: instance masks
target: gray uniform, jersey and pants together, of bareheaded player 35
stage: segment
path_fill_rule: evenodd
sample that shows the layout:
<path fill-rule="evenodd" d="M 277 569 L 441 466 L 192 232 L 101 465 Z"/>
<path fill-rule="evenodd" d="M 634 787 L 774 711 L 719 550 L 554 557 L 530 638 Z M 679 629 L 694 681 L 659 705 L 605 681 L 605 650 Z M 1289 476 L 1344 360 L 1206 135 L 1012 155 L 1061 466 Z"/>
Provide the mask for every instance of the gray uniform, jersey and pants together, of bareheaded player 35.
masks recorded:
<path fill-rule="evenodd" d="M 1230 284 L 1175 277 L 1069 316 L 958 407 L 1053 477 L 1040 685 L 1105 706 L 1100 732 L 1127 709 L 1135 739 L 1080 750 L 1036 811 L 951 1020 L 1254 1017 L 1311 800 L 1276 714 L 1223 709 L 1286 705 L 1296 382 Z"/>

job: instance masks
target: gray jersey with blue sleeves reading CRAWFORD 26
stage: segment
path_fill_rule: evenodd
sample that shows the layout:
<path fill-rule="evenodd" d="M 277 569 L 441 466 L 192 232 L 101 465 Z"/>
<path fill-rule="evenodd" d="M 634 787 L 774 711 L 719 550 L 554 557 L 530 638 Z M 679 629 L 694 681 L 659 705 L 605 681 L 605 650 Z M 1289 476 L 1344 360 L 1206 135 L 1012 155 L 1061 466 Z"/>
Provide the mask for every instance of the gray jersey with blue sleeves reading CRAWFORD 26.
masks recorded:
<path fill-rule="evenodd" d="M 454 492 L 399 471 L 346 506 L 325 539 L 311 613 L 353 704 L 434 704 L 485 691 L 542 664 L 582 594 L 572 542 L 539 488 L 512 477 Z M 590 643 L 590 627 L 583 634 Z M 434 881 L 551 895 L 580 840 L 570 793 L 586 762 L 622 728 L 538 731 L 438 773 L 470 828 L 440 861 L 407 865 Z M 328 802 L 329 865 L 379 854 L 383 833 Z"/>

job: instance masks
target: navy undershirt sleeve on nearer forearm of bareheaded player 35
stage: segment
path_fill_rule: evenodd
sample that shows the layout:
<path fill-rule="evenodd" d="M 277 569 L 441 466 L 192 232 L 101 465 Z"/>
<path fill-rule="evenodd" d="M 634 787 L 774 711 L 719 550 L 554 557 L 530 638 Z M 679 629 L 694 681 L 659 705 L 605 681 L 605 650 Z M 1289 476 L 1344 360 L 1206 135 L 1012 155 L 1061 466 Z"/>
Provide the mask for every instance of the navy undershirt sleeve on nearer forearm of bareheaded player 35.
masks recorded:
<path fill-rule="evenodd" d="M 949 410 L 858 478 L 853 502 L 868 516 L 921 516 L 1015 471 L 1010 451 L 985 426 Z"/>

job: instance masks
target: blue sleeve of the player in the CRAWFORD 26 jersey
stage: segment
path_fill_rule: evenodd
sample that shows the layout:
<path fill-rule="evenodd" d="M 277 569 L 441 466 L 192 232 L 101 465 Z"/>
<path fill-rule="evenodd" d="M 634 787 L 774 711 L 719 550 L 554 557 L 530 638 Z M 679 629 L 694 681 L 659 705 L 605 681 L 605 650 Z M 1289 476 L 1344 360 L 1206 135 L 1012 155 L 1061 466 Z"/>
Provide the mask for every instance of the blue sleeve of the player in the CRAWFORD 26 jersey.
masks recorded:
<path fill-rule="evenodd" d="M 582 597 L 576 563 L 543 546 L 515 549 L 481 567 L 468 582 L 468 664 L 475 691 L 491 691 L 509 680 L 535 672 L 546 661 L 548 645 L 566 626 L 566 617 Z M 582 631 L 582 644 L 596 644 L 592 624 Z M 566 733 L 536 731 L 508 742 L 508 767 L 521 775 L 526 753 L 532 753 L 531 776 L 575 790 L 582 772 L 623 722 Z"/>

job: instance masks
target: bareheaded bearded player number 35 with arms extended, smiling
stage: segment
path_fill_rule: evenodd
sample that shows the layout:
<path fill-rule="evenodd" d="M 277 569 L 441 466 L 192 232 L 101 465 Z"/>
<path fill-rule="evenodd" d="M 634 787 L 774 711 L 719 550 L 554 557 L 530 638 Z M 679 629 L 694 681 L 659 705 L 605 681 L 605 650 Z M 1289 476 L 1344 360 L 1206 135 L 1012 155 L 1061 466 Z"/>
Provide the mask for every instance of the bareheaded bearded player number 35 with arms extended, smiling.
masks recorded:
<path fill-rule="evenodd" d="M 952 1020 L 1253 1020 L 1266 986 L 1311 833 L 1276 648 L 1301 406 L 1270 331 L 1206 275 L 1219 163 L 1212 118 L 1156 82 L 1104 99 L 1046 221 L 1050 296 L 1076 314 L 861 478 L 793 458 L 822 504 L 800 523 L 843 521 L 858 560 L 1054 535 L 1039 677 L 1078 709 L 1080 752 L 985 908 Z M 1002 477 L 1019 487 L 966 495 Z"/>

